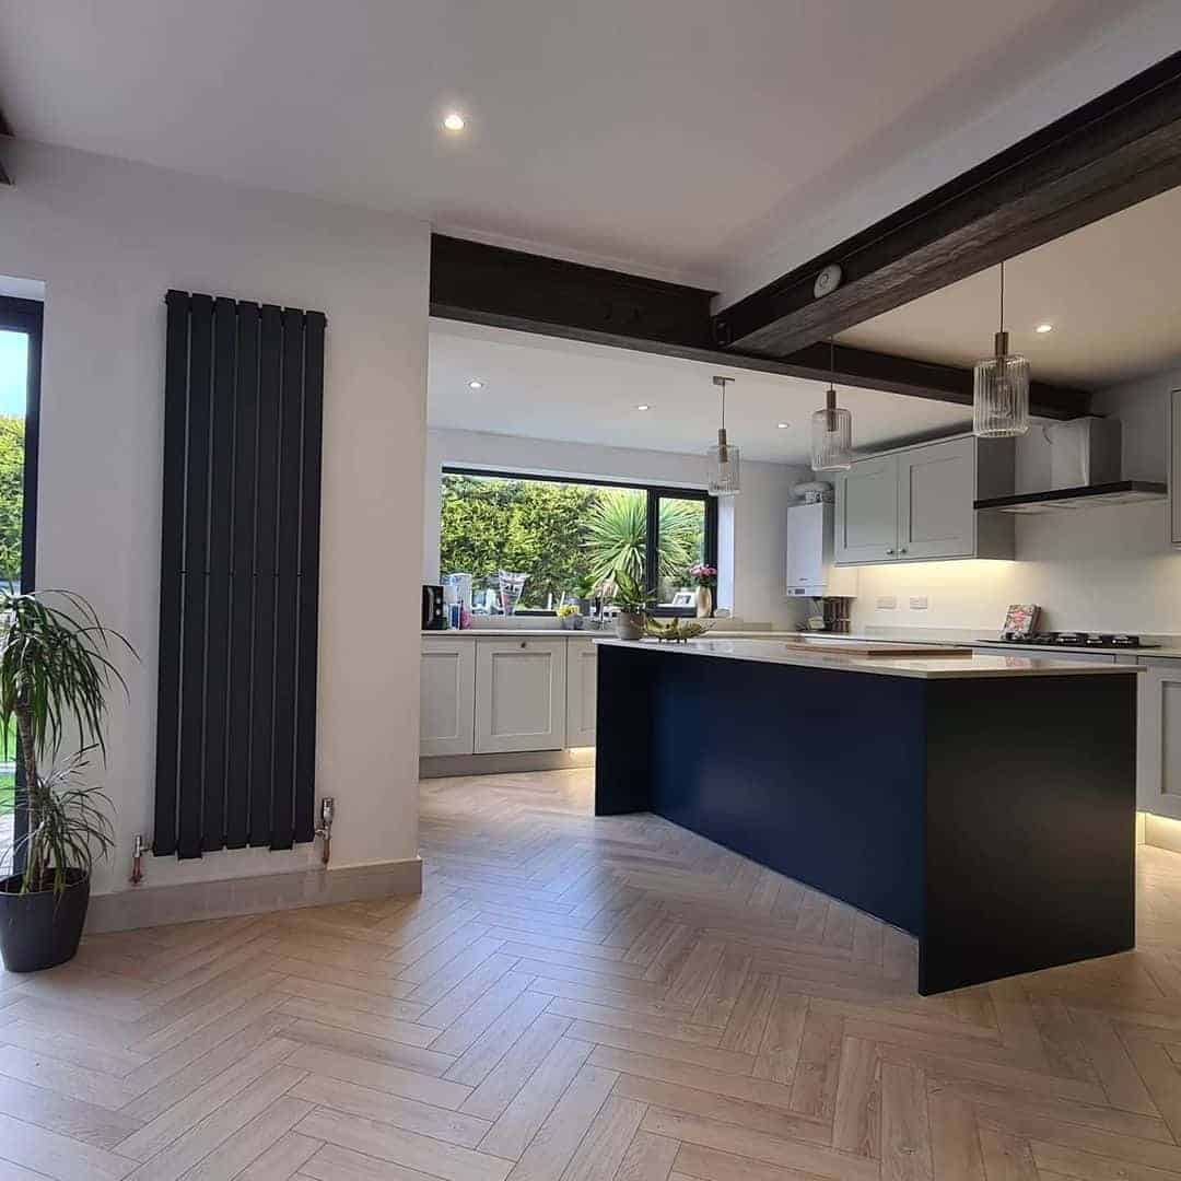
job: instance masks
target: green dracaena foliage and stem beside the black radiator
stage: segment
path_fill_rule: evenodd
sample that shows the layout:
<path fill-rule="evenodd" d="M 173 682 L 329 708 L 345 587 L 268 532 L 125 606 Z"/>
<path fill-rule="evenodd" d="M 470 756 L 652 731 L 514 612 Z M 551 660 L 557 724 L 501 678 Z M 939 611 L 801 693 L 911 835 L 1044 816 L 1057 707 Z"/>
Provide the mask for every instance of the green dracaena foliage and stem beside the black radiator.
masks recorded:
<path fill-rule="evenodd" d="M 68 590 L 0 592 L 0 726 L 17 730 L 27 831 L 13 849 L 24 862 L 21 892 L 68 885 L 107 854 L 110 801 L 84 782 L 87 755 L 106 757 L 106 699 L 126 683 L 115 664 L 136 655 L 94 608 Z M 78 750 L 54 766 L 61 744 Z"/>

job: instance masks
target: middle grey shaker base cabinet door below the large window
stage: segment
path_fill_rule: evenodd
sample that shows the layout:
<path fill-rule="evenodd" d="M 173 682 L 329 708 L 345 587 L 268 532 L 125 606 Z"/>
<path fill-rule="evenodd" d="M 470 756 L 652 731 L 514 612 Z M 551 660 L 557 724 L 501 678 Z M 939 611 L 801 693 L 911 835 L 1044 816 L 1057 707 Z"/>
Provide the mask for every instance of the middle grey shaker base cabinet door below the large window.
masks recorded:
<path fill-rule="evenodd" d="M 565 639 L 476 640 L 475 745 L 477 755 L 566 745 Z"/>

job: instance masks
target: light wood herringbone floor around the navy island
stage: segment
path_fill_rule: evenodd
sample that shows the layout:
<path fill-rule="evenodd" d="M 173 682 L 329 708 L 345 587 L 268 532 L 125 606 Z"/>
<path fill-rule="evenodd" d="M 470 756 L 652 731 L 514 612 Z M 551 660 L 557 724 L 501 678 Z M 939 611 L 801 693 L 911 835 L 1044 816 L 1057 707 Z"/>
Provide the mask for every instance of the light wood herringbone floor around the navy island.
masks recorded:
<path fill-rule="evenodd" d="M 423 789 L 422 899 L 0 974 L 0 1181 L 1181 1179 L 1181 856 L 1134 953 L 924 999 L 913 944 L 590 772 Z"/>

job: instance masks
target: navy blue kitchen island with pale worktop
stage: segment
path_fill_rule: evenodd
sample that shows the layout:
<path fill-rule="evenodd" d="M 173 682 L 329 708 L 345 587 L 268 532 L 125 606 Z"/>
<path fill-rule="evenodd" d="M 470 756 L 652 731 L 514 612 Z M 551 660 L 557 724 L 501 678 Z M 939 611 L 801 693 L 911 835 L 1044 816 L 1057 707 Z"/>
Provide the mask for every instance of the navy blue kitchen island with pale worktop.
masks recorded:
<path fill-rule="evenodd" d="M 913 934 L 919 992 L 1135 942 L 1134 665 L 599 644 L 598 815 Z"/>

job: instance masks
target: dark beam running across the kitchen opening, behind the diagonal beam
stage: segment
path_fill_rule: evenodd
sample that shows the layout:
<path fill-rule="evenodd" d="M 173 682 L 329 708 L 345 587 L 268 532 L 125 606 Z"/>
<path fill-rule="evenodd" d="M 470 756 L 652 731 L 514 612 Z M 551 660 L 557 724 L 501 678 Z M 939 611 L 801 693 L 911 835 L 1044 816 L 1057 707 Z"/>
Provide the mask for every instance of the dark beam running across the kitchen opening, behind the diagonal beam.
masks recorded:
<path fill-rule="evenodd" d="M 783 377 L 828 380 L 828 348 L 764 357 L 716 348 L 711 293 L 521 250 L 431 236 L 431 315 L 568 340 L 704 361 Z M 867 390 L 972 404 L 972 373 L 951 365 L 839 345 L 836 380 Z M 1030 400 L 1045 418 L 1077 418 L 1090 394 L 1035 381 Z"/>

